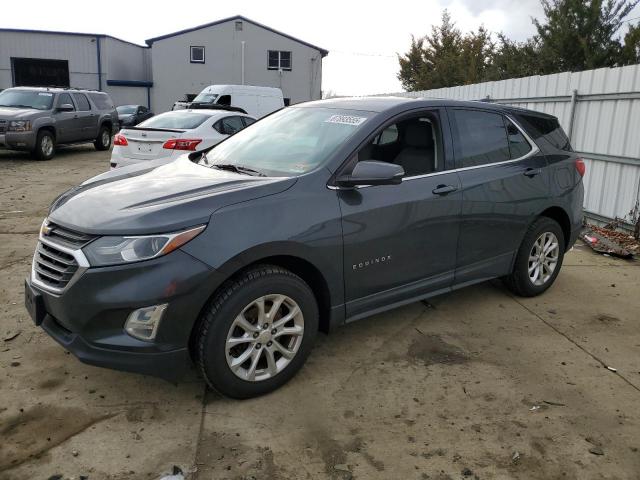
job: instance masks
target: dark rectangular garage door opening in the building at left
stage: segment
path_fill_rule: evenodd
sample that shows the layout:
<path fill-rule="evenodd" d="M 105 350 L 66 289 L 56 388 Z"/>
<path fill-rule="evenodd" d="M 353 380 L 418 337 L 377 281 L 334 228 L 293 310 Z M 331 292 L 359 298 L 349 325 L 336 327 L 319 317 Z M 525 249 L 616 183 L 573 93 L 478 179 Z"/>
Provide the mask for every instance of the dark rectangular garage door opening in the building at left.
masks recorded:
<path fill-rule="evenodd" d="M 69 62 L 40 58 L 11 58 L 15 87 L 68 87 Z"/>

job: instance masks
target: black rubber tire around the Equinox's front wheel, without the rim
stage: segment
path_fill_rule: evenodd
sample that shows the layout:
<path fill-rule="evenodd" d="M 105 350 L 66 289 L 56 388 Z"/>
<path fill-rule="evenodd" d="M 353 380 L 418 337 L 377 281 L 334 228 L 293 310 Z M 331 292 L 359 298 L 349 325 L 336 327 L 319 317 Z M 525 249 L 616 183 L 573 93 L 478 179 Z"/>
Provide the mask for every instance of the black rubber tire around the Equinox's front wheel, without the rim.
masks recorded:
<path fill-rule="evenodd" d="M 304 324 L 303 335 L 297 352 L 281 371 L 264 380 L 249 381 L 234 373 L 227 362 L 227 336 L 232 331 L 236 317 L 256 299 L 268 295 L 285 295 L 299 306 Z M 266 311 L 266 305 L 264 310 Z M 318 316 L 318 305 L 313 292 L 300 277 L 274 265 L 253 267 L 223 285 L 205 308 L 195 342 L 198 367 L 207 384 L 228 397 L 251 398 L 271 392 L 289 381 L 304 364 L 315 342 Z M 262 332 L 272 326 L 274 325 Z M 286 336 L 284 340 L 287 341 Z M 275 339 L 270 343 L 274 342 Z M 259 349 L 260 345 L 256 347 Z M 253 351 L 251 344 L 241 348 L 244 353 Z M 231 350 L 233 349 L 229 351 Z M 264 350 L 266 362 L 266 347 Z M 250 359 L 247 361 L 250 362 Z"/>

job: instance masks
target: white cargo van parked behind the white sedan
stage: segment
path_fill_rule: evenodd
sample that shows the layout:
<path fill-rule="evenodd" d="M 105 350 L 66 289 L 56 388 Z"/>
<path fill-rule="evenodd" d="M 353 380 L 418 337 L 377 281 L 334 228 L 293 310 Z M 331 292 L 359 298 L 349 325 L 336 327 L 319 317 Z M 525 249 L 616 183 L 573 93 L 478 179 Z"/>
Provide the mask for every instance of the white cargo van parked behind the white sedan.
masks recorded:
<path fill-rule="evenodd" d="M 175 102 L 172 110 L 215 108 L 215 106 L 241 108 L 252 117 L 260 118 L 284 107 L 284 98 L 279 88 L 210 85 L 192 102 Z"/>

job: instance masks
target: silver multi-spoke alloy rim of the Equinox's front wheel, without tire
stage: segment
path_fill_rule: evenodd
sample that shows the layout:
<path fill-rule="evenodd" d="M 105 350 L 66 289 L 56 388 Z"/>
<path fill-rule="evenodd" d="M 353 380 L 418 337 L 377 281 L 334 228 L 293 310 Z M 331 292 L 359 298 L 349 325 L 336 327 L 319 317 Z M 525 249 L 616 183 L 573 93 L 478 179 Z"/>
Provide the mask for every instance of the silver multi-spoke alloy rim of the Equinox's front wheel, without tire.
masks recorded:
<path fill-rule="evenodd" d="M 275 377 L 295 357 L 304 335 L 304 316 L 286 295 L 271 294 L 249 303 L 234 319 L 225 342 L 231 371 L 243 380 Z"/>

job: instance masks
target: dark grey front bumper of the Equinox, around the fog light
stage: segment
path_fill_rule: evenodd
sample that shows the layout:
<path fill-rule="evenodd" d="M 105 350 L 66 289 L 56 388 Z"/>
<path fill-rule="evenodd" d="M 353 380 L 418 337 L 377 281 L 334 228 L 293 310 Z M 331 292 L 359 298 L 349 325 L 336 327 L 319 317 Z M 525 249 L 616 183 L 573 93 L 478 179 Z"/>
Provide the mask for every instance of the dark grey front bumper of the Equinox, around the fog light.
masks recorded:
<path fill-rule="evenodd" d="M 178 381 L 190 368 L 193 326 L 219 274 L 177 250 L 157 259 L 114 267 L 89 268 L 61 293 L 27 279 L 42 296 L 42 328 L 90 365 Z M 124 331 L 138 308 L 168 303 L 154 341 Z"/>

